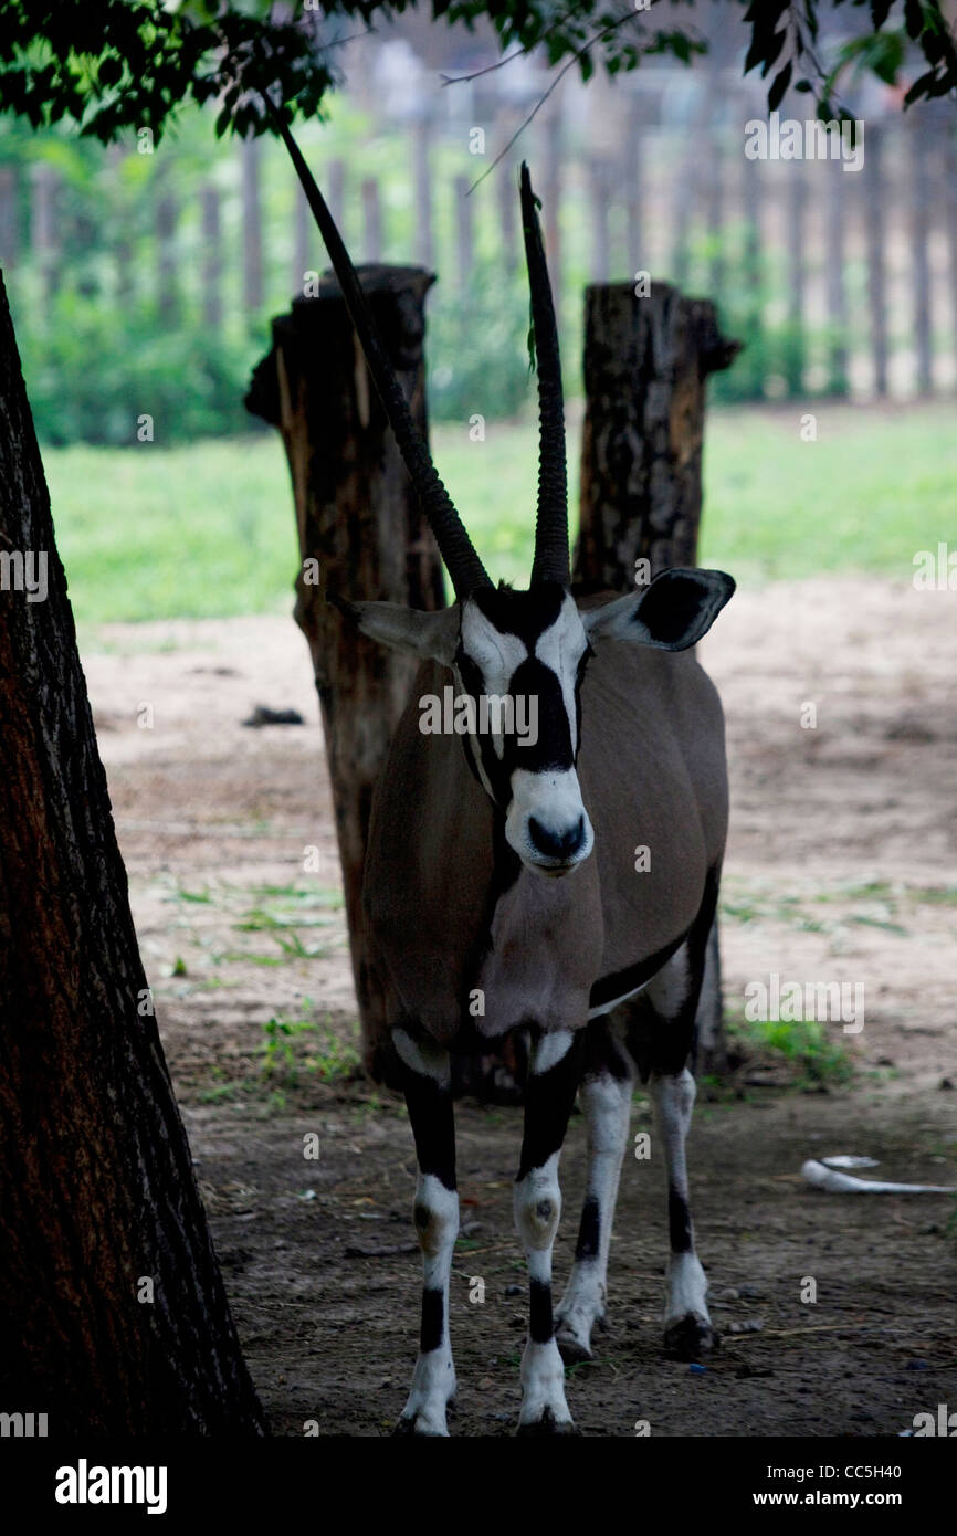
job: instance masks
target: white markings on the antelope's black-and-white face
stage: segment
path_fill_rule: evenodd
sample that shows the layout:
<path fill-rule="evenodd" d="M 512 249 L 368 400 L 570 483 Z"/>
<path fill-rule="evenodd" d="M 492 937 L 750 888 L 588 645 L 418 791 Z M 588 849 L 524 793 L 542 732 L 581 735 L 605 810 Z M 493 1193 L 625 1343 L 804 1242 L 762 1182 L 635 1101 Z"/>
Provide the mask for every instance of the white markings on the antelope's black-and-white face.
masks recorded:
<path fill-rule="evenodd" d="M 462 650 L 482 674 L 487 694 L 504 697 L 512 690 L 516 670 L 535 656 L 556 677 L 568 720 L 571 753 L 578 751 L 578 708 L 575 685 L 578 668 L 588 647 L 588 637 L 578 605 L 565 594 L 553 624 L 535 642 L 530 653 L 516 634 L 496 630 L 478 604 L 467 602 L 462 608 Z M 456 676 L 461 687 L 461 677 Z M 505 743 L 501 734 L 492 736 L 495 754 L 501 759 Z M 470 737 L 469 750 L 485 793 L 493 788 L 482 763 L 479 743 Z M 516 768 L 510 780 L 512 800 L 505 816 L 505 837 L 522 863 L 545 874 L 567 874 L 588 857 L 594 843 L 591 822 L 582 803 L 575 768 L 525 770 Z M 531 823 L 538 823 L 547 843 L 567 846 L 541 846 L 535 842 Z M 581 837 L 576 842 L 576 837 Z"/>

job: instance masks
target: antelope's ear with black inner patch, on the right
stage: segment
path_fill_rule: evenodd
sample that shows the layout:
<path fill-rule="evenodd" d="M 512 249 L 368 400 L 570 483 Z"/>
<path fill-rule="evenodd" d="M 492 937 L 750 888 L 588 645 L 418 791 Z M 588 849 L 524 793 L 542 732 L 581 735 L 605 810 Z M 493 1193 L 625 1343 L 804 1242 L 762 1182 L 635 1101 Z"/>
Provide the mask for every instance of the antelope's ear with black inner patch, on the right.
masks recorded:
<path fill-rule="evenodd" d="M 659 651 L 687 651 L 707 634 L 734 581 L 725 571 L 676 567 L 656 576 L 641 593 L 588 608 L 582 624 L 590 639 L 636 641 Z"/>

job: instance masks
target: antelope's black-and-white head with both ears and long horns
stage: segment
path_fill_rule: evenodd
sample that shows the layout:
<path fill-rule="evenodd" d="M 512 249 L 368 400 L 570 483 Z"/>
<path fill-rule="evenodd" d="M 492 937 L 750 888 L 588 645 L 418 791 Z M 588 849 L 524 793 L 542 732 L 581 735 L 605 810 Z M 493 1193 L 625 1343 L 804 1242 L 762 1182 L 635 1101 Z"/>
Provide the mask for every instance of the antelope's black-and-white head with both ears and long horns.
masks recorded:
<path fill-rule="evenodd" d="M 705 633 L 734 582 L 720 571 L 671 570 L 644 593 L 602 608 L 582 611 L 571 596 L 558 327 L 536 198 L 522 166 L 539 393 L 538 516 L 528 590 L 495 587 L 418 436 L 329 209 L 292 137 L 284 132 L 284 138 L 456 593 L 455 605 L 438 613 L 387 602 L 338 601 L 338 607 L 381 644 L 452 670 L 456 708 L 453 716 L 439 710 L 438 728 L 462 736 L 469 765 L 504 817 L 505 839 L 522 863 L 548 876 L 568 874 L 594 843 L 576 771 L 591 639 L 614 636 L 684 650 Z"/>

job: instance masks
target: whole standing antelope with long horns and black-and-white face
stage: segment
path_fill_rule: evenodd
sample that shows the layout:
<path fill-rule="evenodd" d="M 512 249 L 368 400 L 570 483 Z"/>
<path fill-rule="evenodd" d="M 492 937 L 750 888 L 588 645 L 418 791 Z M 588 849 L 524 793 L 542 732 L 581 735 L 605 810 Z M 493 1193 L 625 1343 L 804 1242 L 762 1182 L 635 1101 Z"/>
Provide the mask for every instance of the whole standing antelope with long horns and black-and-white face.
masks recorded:
<path fill-rule="evenodd" d="M 450 1052 L 487 1052 L 525 1031 L 515 1221 L 530 1306 L 518 1433 L 573 1435 L 564 1362 L 591 1358 L 591 1332 L 605 1316 L 636 1072 L 650 1087 L 667 1167 L 665 1349 L 699 1359 L 716 1344 L 694 1250 L 685 1137 L 696 1018 L 714 965 L 728 790 L 720 703 L 691 648 L 734 582 L 724 571 L 674 568 L 627 596 L 578 602 L 571 593 L 558 329 L 541 204 L 522 166 L 538 515 L 528 590 L 495 587 L 416 433 L 321 192 L 289 129 L 281 123 L 280 131 L 456 599 L 436 613 L 335 599 L 364 634 L 421 664 L 378 782 L 364 868 L 370 957 L 389 992 L 418 1163 L 421 1333 L 396 1433 L 447 1435 L 456 1389 Z M 449 685 L 456 700 L 533 696 L 535 740 L 501 728 L 501 711 L 484 733 L 424 733 L 421 700 L 442 697 Z M 636 860 L 637 846 L 647 859 Z M 575 1264 L 553 1313 L 558 1164 L 576 1094 L 587 1118 L 587 1195 Z"/>

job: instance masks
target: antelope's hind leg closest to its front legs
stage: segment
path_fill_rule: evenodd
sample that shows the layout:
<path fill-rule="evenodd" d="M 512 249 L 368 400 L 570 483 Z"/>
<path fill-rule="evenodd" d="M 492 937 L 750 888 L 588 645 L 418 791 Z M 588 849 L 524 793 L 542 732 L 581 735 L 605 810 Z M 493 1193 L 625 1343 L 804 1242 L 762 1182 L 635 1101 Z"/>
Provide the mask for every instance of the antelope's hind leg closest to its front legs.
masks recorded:
<path fill-rule="evenodd" d="M 585 1203 L 575 1247 L 575 1264 L 556 1313 L 562 1359 L 573 1366 L 591 1359 L 591 1329 L 605 1318 L 608 1247 L 622 1170 L 634 1072 L 607 1018 L 587 1029 L 585 1068 L 579 1091 L 588 1126 Z"/>

